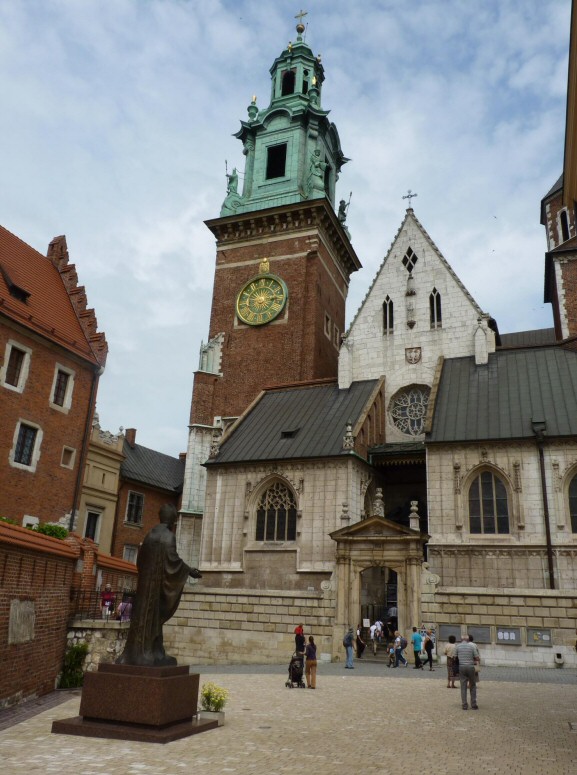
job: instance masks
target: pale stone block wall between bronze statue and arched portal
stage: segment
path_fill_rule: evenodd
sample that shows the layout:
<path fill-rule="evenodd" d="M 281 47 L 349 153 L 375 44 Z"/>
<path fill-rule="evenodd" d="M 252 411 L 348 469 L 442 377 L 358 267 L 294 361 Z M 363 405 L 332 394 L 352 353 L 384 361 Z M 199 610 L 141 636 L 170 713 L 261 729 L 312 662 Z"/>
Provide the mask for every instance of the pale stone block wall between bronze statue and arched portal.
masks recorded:
<path fill-rule="evenodd" d="M 333 656 L 334 593 L 195 588 L 164 627 L 167 653 L 179 664 L 283 664 L 294 652 L 294 628 L 312 635 L 319 659 Z M 344 633 L 338 633 L 340 646 Z M 343 651 L 340 646 L 340 652 Z"/>

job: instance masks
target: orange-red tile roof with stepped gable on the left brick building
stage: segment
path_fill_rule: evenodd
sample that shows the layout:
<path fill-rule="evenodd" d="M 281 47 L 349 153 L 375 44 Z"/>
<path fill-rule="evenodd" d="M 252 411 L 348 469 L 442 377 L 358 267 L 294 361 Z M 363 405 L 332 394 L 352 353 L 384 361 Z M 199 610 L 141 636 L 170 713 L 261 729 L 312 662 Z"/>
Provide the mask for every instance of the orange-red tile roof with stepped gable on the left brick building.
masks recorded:
<path fill-rule="evenodd" d="M 84 288 L 68 263 L 65 238 L 53 240 L 49 251 L 47 258 L 0 226 L 0 314 L 103 366 L 106 339 L 96 332 L 94 311 L 86 308 Z M 9 282 L 29 296 L 16 298 Z"/>

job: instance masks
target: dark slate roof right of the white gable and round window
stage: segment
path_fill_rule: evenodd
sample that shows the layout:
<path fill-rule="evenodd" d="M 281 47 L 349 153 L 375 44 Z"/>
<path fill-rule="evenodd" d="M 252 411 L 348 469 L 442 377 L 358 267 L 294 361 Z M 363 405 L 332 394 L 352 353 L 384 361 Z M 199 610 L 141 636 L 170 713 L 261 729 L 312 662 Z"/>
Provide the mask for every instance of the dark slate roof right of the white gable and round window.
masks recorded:
<path fill-rule="evenodd" d="M 484 366 L 447 359 L 427 441 L 534 438 L 532 419 L 545 420 L 548 437 L 577 434 L 577 353 L 500 350 Z"/>

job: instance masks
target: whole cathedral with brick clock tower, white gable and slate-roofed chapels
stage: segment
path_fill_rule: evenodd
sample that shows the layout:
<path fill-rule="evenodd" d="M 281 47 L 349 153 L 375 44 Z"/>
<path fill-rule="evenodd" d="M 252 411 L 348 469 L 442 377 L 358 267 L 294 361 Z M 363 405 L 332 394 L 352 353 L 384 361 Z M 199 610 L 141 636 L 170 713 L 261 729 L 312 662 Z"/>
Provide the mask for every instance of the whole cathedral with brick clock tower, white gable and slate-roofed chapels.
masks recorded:
<path fill-rule="evenodd" d="M 379 617 L 438 644 L 470 632 L 486 664 L 577 665 L 575 111 L 541 204 L 553 328 L 500 332 L 410 206 L 346 328 L 348 160 L 303 32 L 272 64 L 268 107 L 248 106 L 244 173 L 206 222 L 178 525 L 203 578 L 171 653 L 284 662 L 303 623 L 339 659 L 344 630 Z"/>

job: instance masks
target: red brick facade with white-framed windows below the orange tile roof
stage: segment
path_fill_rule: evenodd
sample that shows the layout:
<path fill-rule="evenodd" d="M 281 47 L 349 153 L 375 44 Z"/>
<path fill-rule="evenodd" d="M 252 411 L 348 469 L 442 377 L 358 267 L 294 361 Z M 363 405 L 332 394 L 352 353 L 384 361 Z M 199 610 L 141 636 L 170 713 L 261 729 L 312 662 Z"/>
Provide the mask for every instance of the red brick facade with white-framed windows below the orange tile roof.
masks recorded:
<path fill-rule="evenodd" d="M 30 515 L 41 522 L 56 522 L 73 506 L 93 369 L 61 348 L 4 323 L 0 324 L 0 364 L 9 340 L 32 353 L 21 393 L 0 384 L 0 516 L 21 522 L 24 515 Z M 50 405 L 57 363 L 74 371 L 72 404 L 67 412 Z M 39 426 L 43 433 L 35 471 L 8 462 L 19 421 Z M 62 465 L 65 446 L 75 450 L 72 468 Z"/>

